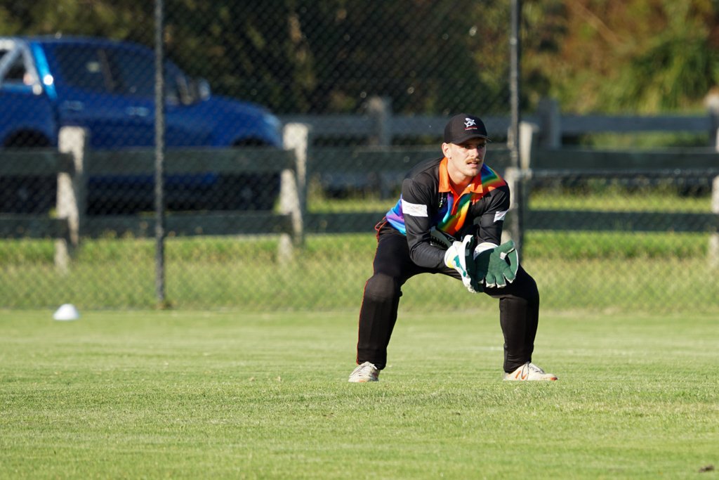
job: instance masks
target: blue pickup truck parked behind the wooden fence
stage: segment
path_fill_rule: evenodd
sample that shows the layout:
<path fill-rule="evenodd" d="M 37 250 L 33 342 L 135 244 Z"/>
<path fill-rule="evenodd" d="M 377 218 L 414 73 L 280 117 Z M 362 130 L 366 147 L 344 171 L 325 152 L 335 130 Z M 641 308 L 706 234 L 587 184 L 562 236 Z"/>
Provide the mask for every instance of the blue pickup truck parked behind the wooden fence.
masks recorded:
<path fill-rule="evenodd" d="M 0 37 L 0 148 L 53 148 L 65 125 L 89 130 L 90 147 L 122 150 L 155 141 L 155 57 L 131 42 L 90 37 Z M 280 122 L 267 109 L 211 94 L 206 81 L 165 63 L 168 148 L 280 148 Z M 165 180 L 191 209 L 270 209 L 278 176 L 208 172 Z M 268 184 L 269 182 L 269 184 Z M 152 178 L 89 178 L 88 213 L 152 209 Z M 0 212 L 47 211 L 55 179 L 0 178 Z"/>

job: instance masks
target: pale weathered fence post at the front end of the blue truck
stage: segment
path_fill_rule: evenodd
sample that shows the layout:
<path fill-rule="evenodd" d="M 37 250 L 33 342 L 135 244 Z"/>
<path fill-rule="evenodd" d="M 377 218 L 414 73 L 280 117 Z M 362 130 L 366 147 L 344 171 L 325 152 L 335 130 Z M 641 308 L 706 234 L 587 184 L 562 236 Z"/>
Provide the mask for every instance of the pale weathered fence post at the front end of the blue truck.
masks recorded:
<path fill-rule="evenodd" d="M 286 263 L 293 258 L 293 248 L 304 243 L 304 215 L 307 204 L 307 155 L 310 145 L 310 126 L 288 123 L 283 130 L 283 145 L 295 155 L 295 168 L 280 174 L 280 210 L 290 214 L 292 233 L 280 235 L 278 259 Z"/>

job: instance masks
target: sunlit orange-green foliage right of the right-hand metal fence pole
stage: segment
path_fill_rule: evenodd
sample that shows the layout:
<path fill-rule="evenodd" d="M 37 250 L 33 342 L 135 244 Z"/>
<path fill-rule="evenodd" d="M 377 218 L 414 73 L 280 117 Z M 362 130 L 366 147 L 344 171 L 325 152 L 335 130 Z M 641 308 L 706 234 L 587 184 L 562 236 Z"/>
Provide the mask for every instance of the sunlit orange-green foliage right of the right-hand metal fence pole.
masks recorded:
<path fill-rule="evenodd" d="M 719 83 L 707 0 L 527 1 L 526 95 L 567 112 L 700 110 Z M 536 87 L 535 87 L 536 86 Z"/>

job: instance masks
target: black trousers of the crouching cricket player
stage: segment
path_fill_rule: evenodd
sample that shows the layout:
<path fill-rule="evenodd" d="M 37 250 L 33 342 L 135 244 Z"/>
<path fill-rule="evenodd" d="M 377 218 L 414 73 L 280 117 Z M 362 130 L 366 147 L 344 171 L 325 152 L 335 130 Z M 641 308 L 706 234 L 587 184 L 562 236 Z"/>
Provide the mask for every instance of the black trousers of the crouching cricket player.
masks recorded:
<path fill-rule="evenodd" d="M 377 235 L 374 274 L 365 284 L 359 312 L 357 363 L 369 361 L 380 370 L 387 365 L 387 346 L 397 321 L 402 286 L 418 273 L 443 273 L 461 281 L 454 268 L 423 268 L 409 256 L 407 238 L 381 229 Z M 464 288 L 464 287 L 462 287 Z M 534 279 L 520 266 L 517 278 L 499 289 L 485 289 L 499 299 L 500 326 L 504 335 L 504 370 L 514 371 L 531 361 L 539 323 L 539 291 Z M 467 302 L 472 294 L 467 292 Z"/>

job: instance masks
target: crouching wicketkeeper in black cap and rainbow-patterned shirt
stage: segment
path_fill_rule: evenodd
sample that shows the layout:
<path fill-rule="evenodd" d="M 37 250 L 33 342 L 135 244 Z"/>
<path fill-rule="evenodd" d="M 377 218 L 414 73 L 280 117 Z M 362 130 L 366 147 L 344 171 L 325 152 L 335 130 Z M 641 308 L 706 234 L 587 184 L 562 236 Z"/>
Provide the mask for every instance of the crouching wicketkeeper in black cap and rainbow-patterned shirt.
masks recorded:
<path fill-rule="evenodd" d="M 513 243 L 500 245 L 510 191 L 485 164 L 489 140 L 475 115 L 449 119 L 441 144 L 444 155 L 409 171 L 399 201 L 375 226 L 374 273 L 365 284 L 357 368 L 349 381 L 379 380 L 402 286 L 419 273 L 452 276 L 473 294 L 483 291 L 499 300 L 504 380 L 557 380 L 532 363 L 539 291 L 518 264 Z"/>

